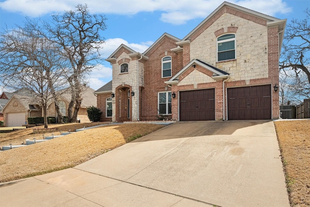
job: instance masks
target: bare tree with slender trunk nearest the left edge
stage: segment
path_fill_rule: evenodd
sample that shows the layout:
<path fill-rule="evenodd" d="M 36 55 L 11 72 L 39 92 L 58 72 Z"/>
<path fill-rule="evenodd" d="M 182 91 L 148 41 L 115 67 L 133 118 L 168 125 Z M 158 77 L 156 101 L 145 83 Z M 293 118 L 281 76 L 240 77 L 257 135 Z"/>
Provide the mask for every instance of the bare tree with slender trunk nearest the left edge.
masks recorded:
<path fill-rule="evenodd" d="M 24 88 L 31 101 L 42 107 L 47 128 L 47 106 L 57 101 L 56 91 L 66 85 L 60 48 L 42 35 L 40 27 L 26 18 L 25 27 L 6 29 L 0 38 L 1 81 L 6 88 Z"/>

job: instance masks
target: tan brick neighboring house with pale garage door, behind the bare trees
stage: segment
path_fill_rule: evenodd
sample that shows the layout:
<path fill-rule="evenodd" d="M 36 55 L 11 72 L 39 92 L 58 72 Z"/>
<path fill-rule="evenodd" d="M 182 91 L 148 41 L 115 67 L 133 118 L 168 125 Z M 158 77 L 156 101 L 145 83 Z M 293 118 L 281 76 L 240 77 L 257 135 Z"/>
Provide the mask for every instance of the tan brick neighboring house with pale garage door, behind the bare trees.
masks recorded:
<path fill-rule="evenodd" d="M 96 106 L 96 97 L 93 95 L 94 90 L 89 87 L 84 87 L 82 93 L 81 108 L 78 111 L 78 120 L 81 123 L 90 122 L 87 116 L 87 107 Z M 15 92 L 13 92 L 15 93 Z M 8 103 L 3 108 L 4 126 L 16 127 L 28 123 L 28 117 L 43 117 L 41 106 L 30 98 L 31 95 L 14 94 Z M 60 97 L 60 108 L 62 116 L 67 115 L 68 105 L 71 100 L 69 92 L 62 94 Z M 56 117 L 55 103 L 48 104 L 47 116 Z"/>

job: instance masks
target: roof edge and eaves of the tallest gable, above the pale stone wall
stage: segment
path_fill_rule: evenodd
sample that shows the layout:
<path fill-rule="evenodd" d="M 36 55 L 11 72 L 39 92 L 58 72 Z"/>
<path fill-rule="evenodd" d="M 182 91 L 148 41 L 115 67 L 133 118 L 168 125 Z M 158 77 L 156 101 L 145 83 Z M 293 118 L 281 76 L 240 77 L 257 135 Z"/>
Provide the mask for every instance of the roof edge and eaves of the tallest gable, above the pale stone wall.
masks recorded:
<path fill-rule="evenodd" d="M 224 1 L 221 5 L 219 5 L 216 10 L 214 10 L 197 27 L 195 27 L 191 32 L 189 32 L 178 44 L 182 44 L 183 42 L 190 40 L 191 36 L 195 32 L 200 30 L 207 21 L 212 20 L 212 18 L 224 7 L 229 7 L 229 8 L 232 8 L 232 9 L 238 11 L 238 12 L 264 19 L 267 21 L 267 26 L 270 26 L 270 27 L 278 26 L 279 27 L 279 43 L 280 43 L 279 44 L 279 51 L 281 50 L 283 36 L 284 36 L 284 29 L 285 29 L 285 25 L 286 25 L 286 19 L 279 19 L 276 17 L 264 15 L 262 13 L 247 9 L 245 7 L 242 7 L 242 6 L 235 5 L 233 3 L 229 3 L 227 1 Z"/>

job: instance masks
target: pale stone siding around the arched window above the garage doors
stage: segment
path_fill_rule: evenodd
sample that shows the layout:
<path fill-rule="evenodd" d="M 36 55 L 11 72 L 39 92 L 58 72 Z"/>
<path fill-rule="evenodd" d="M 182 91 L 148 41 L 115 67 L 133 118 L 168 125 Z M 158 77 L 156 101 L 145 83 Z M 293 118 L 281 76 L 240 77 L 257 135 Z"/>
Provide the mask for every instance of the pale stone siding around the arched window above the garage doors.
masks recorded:
<path fill-rule="evenodd" d="M 233 27 L 231 26 L 233 25 Z M 236 59 L 217 62 L 217 37 L 222 32 L 236 35 Z M 268 77 L 267 27 L 224 13 L 190 44 L 190 59 L 199 59 L 230 74 L 230 80 Z"/>

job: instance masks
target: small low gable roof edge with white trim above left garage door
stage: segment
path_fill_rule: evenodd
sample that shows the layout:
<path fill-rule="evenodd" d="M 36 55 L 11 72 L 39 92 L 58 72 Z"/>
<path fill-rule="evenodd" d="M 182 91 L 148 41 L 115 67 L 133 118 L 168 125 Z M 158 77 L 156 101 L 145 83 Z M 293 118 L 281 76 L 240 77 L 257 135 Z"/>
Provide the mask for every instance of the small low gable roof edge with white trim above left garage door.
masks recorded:
<path fill-rule="evenodd" d="M 213 72 L 213 76 L 212 76 L 213 79 L 222 79 L 222 78 L 229 77 L 229 73 L 227 73 L 223 70 L 220 70 L 217 67 L 214 67 L 210 64 L 206 64 L 206 63 L 202 62 L 201 60 L 194 59 L 190 63 L 188 63 L 184 68 L 182 68 L 182 70 L 180 70 L 177 74 L 175 74 L 170 80 L 165 81 L 165 83 L 166 84 L 177 84 L 179 77 L 183 73 L 185 73 L 185 71 L 187 69 L 189 69 L 191 66 L 196 67 L 196 64 L 198 64 L 198 65 L 202 66 L 203 68 Z"/>

